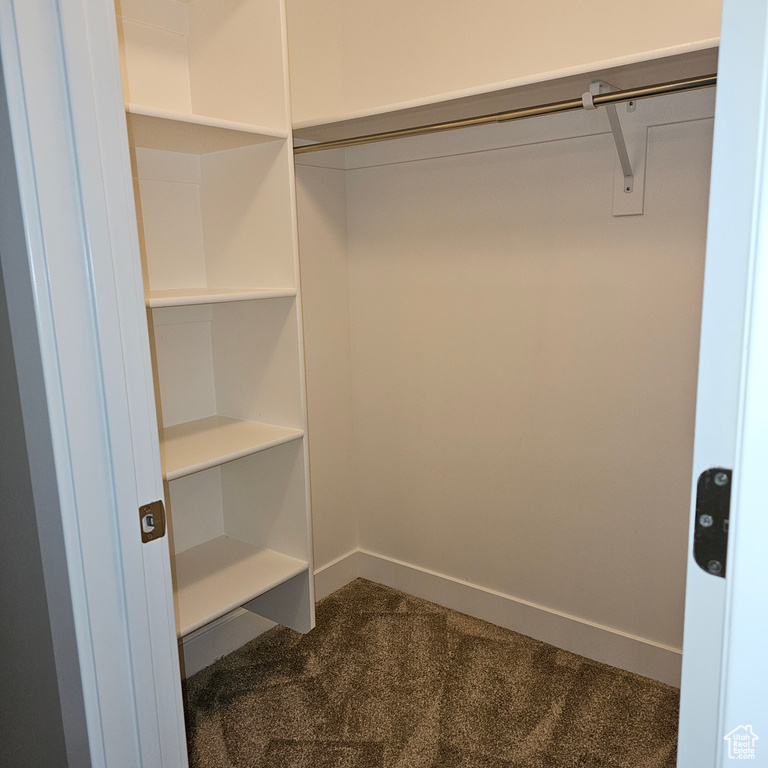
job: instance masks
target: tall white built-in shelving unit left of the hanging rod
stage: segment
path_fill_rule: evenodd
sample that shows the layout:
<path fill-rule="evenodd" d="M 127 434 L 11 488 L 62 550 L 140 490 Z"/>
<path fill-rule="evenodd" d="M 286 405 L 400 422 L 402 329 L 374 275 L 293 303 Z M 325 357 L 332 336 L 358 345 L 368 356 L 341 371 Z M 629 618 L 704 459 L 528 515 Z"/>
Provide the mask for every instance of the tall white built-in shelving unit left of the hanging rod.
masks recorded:
<path fill-rule="evenodd" d="M 314 623 L 281 0 L 118 0 L 178 634 Z M 223 652 L 223 651 L 222 651 Z"/>

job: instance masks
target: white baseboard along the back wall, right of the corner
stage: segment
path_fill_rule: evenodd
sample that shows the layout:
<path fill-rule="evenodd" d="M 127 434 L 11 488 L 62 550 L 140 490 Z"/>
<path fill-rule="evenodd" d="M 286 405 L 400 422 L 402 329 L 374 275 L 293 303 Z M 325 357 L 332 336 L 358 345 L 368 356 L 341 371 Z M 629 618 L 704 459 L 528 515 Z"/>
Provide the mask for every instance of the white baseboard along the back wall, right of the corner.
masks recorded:
<path fill-rule="evenodd" d="M 365 579 L 484 619 L 595 661 L 660 680 L 668 685 L 680 685 L 682 652 L 677 648 L 374 552 L 359 549 L 347 557 L 357 560 L 357 572 Z M 344 567 L 354 570 L 352 564 L 345 564 Z"/>

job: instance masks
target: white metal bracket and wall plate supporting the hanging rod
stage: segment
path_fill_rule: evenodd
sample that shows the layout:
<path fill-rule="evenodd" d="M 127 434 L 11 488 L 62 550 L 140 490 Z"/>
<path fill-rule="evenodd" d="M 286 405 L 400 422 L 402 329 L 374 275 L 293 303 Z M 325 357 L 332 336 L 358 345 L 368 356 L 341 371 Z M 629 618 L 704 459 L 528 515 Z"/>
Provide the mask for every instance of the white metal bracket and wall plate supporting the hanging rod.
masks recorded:
<path fill-rule="evenodd" d="M 581 101 L 584 109 L 597 109 L 598 105 L 594 103 L 593 96 L 616 90 L 618 88 L 603 80 L 595 80 L 590 83 L 589 90 L 582 94 Z M 642 214 L 645 197 L 646 130 L 642 128 L 640 131 L 631 131 L 630 143 L 632 146 L 631 150 L 628 149 L 616 105 L 605 104 L 604 106 L 608 115 L 608 123 L 611 126 L 613 141 L 616 145 L 616 154 L 619 158 L 614 180 L 613 215 L 633 216 Z M 627 104 L 627 112 L 631 113 L 636 109 L 636 102 Z"/>

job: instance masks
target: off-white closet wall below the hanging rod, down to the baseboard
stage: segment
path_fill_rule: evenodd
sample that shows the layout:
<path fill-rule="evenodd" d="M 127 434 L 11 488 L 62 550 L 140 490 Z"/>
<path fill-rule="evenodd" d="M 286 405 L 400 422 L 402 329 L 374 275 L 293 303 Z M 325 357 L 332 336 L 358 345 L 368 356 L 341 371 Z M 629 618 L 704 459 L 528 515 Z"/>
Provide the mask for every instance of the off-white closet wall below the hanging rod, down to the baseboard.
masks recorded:
<path fill-rule="evenodd" d="M 356 513 L 364 550 L 680 647 L 713 101 L 641 102 L 643 216 L 600 113 L 300 168 L 319 565 Z"/>

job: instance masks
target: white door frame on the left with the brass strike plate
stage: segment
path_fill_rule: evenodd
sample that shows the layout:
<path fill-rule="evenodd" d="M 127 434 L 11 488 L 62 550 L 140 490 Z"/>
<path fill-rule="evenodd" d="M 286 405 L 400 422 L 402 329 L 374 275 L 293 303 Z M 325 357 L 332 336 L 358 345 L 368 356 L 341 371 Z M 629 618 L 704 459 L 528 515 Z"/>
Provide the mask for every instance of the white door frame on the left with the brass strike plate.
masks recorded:
<path fill-rule="evenodd" d="M 2 268 L 27 441 L 42 426 L 52 448 L 30 469 L 56 479 L 58 530 L 41 524 L 52 510 L 36 513 L 68 752 L 73 765 L 88 752 L 93 766 L 181 768 L 168 539 L 142 544 L 139 528 L 163 487 L 112 2 L 0 0 L 0 55 L 0 141 L 16 166 L 3 183 L 20 203 Z"/>

